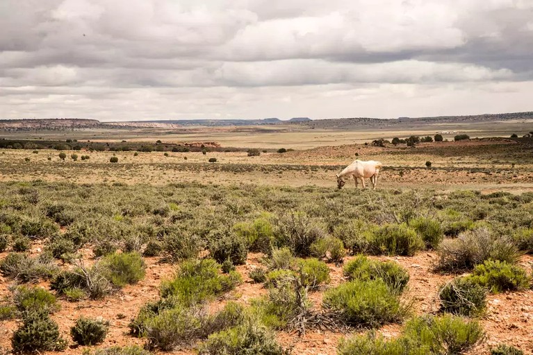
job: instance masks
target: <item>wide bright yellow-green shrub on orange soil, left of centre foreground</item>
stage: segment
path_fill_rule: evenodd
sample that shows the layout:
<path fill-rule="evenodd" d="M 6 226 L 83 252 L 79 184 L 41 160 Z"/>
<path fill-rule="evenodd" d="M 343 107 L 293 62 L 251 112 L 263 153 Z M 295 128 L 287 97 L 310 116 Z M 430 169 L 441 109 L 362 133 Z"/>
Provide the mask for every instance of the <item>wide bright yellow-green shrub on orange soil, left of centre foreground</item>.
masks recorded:
<path fill-rule="evenodd" d="M 237 272 L 220 275 L 220 266 L 213 259 L 184 261 L 176 277 L 161 284 L 161 297 L 177 297 L 192 305 L 231 290 L 241 281 Z"/>

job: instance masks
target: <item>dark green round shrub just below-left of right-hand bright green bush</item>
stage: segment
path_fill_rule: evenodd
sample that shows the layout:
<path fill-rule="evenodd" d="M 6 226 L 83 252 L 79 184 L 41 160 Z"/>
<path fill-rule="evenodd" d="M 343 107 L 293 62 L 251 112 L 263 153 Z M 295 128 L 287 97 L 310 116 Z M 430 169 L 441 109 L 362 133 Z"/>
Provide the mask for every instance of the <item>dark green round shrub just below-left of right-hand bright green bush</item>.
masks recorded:
<path fill-rule="evenodd" d="M 441 286 L 438 297 L 444 312 L 475 316 L 485 311 L 486 290 L 470 277 L 459 277 Z"/>

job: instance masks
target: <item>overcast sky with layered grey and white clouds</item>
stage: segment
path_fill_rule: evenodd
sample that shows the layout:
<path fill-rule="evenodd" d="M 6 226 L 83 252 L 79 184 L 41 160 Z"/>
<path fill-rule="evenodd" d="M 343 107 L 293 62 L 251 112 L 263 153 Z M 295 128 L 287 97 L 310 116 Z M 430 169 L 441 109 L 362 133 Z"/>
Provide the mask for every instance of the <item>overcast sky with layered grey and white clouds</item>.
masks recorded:
<path fill-rule="evenodd" d="M 0 119 L 533 110 L 533 0 L 0 0 Z"/>

